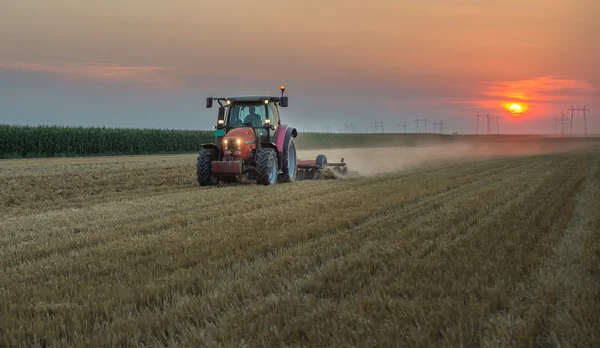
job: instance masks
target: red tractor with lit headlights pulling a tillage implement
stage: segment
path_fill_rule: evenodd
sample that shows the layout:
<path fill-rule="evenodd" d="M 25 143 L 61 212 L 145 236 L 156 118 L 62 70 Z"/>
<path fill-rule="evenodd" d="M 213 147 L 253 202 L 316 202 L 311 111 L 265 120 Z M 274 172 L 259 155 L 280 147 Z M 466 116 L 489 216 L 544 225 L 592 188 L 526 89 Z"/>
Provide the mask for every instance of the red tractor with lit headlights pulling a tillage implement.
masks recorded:
<path fill-rule="evenodd" d="M 288 106 L 288 97 L 247 96 L 206 99 L 211 108 L 219 103 L 215 143 L 202 144 L 196 164 L 200 186 L 233 183 L 243 177 L 257 184 L 274 185 L 298 178 L 318 178 L 325 167 L 346 172 L 346 164 L 327 163 L 324 155 L 316 160 L 298 161 L 294 127 L 281 124 L 279 107 Z M 298 173 L 301 175 L 298 176 Z"/>

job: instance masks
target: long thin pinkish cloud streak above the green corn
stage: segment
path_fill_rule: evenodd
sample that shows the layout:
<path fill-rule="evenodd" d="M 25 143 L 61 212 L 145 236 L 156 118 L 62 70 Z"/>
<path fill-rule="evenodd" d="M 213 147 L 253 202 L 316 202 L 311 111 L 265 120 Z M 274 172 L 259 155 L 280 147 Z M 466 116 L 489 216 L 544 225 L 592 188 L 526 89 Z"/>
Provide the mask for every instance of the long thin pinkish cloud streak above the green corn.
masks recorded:
<path fill-rule="evenodd" d="M 157 66 L 123 66 L 81 62 L 0 61 L 0 70 L 62 75 L 71 78 L 137 83 L 160 87 L 178 84 L 171 69 Z"/>

